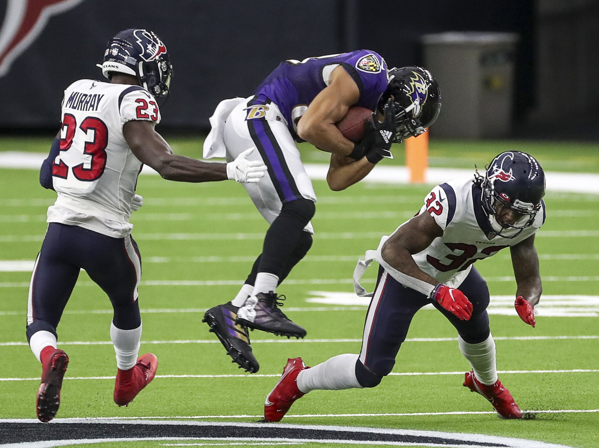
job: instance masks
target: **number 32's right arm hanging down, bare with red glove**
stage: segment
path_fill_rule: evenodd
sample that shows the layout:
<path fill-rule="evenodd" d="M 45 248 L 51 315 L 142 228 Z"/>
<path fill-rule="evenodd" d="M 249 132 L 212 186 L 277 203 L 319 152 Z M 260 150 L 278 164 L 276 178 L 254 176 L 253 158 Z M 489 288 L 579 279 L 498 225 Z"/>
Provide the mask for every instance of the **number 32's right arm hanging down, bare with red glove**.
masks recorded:
<path fill-rule="evenodd" d="M 539 271 L 539 255 L 534 247 L 534 235 L 510 247 L 512 266 L 518 290 L 515 308 L 518 316 L 528 325 L 535 326 L 533 307 L 539 303 L 543 286 Z"/>

